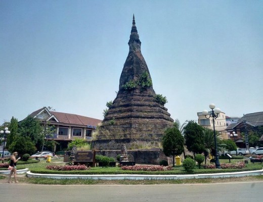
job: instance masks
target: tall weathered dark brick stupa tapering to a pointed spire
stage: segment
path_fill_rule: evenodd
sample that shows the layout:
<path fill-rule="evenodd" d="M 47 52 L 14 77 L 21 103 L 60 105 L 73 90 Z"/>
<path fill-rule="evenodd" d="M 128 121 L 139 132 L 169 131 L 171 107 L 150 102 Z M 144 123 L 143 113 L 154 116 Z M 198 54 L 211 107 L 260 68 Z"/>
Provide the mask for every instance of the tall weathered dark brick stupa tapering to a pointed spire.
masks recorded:
<path fill-rule="evenodd" d="M 159 147 L 165 128 L 173 124 L 156 101 L 134 17 L 128 45 L 119 91 L 98 130 L 96 149 L 120 149 L 122 144 L 127 149 Z"/>

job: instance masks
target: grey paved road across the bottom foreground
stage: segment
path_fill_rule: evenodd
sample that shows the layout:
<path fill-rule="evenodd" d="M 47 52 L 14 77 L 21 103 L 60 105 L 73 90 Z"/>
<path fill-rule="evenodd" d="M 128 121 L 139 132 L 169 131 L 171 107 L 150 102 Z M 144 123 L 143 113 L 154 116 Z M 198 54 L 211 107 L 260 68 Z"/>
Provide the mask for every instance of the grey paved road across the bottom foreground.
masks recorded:
<path fill-rule="evenodd" d="M 262 201 L 263 182 L 185 185 L 0 184 L 0 201 Z M 13 196 L 11 195 L 12 193 Z"/>

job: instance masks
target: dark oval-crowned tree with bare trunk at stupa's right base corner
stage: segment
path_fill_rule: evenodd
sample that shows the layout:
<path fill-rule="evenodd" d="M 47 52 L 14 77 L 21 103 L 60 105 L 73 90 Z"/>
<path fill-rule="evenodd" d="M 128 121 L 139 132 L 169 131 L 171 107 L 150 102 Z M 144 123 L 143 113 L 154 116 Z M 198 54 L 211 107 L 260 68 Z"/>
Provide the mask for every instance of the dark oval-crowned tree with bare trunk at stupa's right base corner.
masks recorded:
<path fill-rule="evenodd" d="M 174 167 L 174 156 L 181 155 L 184 151 L 184 137 L 176 127 L 167 128 L 164 131 L 162 147 L 165 156 L 172 155 L 172 166 Z"/>

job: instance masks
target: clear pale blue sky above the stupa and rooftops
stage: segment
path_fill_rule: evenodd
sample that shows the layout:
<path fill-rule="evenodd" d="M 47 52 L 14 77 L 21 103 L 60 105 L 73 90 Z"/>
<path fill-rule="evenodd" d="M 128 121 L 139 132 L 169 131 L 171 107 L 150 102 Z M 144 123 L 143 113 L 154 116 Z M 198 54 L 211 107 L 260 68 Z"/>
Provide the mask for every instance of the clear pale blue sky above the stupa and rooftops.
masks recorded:
<path fill-rule="evenodd" d="M 0 124 L 42 107 L 103 119 L 135 15 L 153 88 L 181 124 L 263 111 L 263 1 L 0 1 Z"/>

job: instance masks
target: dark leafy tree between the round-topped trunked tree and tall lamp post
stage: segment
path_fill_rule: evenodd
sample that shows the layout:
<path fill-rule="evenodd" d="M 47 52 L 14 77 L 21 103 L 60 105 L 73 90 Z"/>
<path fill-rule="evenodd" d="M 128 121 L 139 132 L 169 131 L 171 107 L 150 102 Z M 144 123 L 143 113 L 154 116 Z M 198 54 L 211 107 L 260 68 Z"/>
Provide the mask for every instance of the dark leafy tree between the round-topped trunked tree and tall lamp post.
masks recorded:
<path fill-rule="evenodd" d="M 191 121 L 185 126 L 186 146 L 189 151 L 201 154 L 205 151 L 203 127 Z"/>

